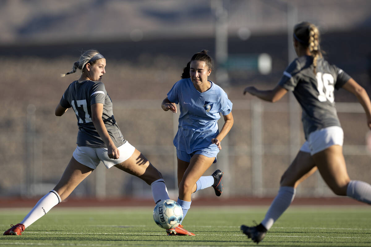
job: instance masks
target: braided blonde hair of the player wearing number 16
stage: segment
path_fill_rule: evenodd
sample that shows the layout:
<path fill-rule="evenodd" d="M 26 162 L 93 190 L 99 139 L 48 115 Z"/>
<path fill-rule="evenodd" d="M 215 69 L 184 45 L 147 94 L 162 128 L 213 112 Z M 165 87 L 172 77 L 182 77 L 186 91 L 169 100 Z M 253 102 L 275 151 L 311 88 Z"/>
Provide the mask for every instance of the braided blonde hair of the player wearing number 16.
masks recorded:
<path fill-rule="evenodd" d="M 318 58 L 322 57 L 321 48 L 319 47 L 319 30 L 314 24 L 303 21 L 294 27 L 294 38 L 303 46 L 309 48 L 313 57 L 314 70 L 317 67 Z"/>

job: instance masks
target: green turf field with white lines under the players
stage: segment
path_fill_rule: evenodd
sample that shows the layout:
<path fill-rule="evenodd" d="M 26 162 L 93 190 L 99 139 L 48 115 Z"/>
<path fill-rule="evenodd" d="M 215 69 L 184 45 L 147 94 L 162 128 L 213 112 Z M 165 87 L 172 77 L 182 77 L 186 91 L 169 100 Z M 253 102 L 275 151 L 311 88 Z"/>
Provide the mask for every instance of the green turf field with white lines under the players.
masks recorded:
<path fill-rule="evenodd" d="M 29 209 L 0 209 L 0 230 Z M 196 236 L 167 236 L 152 208 L 54 208 L 22 236 L 0 246 L 256 246 L 239 226 L 260 222 L 267 207 L 193 207 L 183 221 Z M 371 246 L 370 207 L 291 207 L 258 246 Z"/>

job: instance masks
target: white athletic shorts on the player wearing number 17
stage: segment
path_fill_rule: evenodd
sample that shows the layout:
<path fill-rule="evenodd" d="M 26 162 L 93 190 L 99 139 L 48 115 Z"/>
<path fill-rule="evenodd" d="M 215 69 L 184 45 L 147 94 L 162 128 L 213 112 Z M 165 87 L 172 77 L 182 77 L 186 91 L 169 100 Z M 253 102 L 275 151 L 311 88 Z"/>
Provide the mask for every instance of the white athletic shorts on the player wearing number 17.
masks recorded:
<path fill-rule="evenodd" d="M 73 158 L 75 158 L 79 163 L 92 169 L 95 169 L 102 161 L 108 169 L 130 158 L 135 151 L 135 147 L 126 141 L 118 147 L 118 150 L 120 151 L 120 157 L 117 160 L 114 160 L 113 158 L 108 157 L 107 148 L 77 146 L 75 151 L 73 151 Z"/>

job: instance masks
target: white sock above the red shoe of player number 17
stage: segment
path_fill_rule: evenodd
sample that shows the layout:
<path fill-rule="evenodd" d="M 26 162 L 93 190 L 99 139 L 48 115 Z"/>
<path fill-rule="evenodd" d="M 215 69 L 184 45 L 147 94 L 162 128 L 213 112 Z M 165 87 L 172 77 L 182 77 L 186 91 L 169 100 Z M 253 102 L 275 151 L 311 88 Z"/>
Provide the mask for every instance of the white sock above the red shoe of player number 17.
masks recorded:
<path fill-rule="evenodd" d="M 58 193 L 54 190 L 50 191 L 36 203 L 35 207 L 21 221 L 21 224 L 24 225 L 24 228 L 30 226 L 30 224 L 44 216 L 52 207 L 60 202 Z"/>

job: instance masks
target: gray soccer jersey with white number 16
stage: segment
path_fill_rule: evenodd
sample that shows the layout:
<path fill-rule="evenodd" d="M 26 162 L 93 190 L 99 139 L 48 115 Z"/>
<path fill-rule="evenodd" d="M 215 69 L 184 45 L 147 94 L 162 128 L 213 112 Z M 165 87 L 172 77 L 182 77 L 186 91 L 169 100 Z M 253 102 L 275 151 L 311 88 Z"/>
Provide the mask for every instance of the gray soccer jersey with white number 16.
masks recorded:
<path fill-rule="evenodd" d="M 295 59 L 283 72 L 279 85 L 293 91 L 302 107 L 305 138 L 315 130 L 340 126 L 334 101 L 334 89 L 341 88 L 351 77 L 323 58 L 313 67 L 312 56 Z"/>

